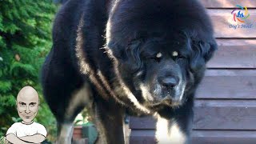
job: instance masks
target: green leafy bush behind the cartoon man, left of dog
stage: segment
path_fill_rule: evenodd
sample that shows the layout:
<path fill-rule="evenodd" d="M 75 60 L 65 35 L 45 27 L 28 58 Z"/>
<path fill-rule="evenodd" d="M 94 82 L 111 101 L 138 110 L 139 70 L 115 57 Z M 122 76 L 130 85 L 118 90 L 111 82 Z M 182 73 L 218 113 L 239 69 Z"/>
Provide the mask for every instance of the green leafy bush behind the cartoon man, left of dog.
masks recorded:
<path fill-rule="evenodd" d="M 16 121 L 18 91 L 33 86 L 41 105 L 35 121 L 46 126 L 54 141 L 56 122 L 42 98 L 40 69 L 50 51 L 57 6 L 51 0 L 0 0 L 0 138 Z"/>

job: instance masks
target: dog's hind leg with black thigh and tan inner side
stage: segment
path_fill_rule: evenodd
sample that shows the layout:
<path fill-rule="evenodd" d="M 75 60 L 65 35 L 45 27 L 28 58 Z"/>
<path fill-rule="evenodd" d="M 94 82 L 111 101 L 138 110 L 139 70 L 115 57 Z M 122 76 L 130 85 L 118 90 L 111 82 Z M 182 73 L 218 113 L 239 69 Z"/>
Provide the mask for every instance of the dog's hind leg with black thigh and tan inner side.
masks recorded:
<path fill-rule="evenodd" d="M 74 118 L 89 101 L 90 85 L 68 59 L 53 55 L 51 51 L 42 67 L 43 94 L 57 120 L 58 143 L 70 144 Z"/>

